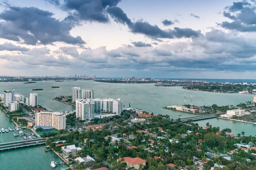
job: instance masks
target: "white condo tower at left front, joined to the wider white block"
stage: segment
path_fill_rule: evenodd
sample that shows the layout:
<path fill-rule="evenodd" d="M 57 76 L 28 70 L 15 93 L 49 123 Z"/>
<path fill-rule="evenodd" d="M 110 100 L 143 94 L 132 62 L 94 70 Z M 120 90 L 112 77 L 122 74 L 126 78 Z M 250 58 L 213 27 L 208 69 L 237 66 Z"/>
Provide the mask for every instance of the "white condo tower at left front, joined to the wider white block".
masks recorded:
<path fill-rule="evenodd" d="M 76 117 L 85 121 L 90 121 L 94 118 L 93 99 L 76 100 Z"/>

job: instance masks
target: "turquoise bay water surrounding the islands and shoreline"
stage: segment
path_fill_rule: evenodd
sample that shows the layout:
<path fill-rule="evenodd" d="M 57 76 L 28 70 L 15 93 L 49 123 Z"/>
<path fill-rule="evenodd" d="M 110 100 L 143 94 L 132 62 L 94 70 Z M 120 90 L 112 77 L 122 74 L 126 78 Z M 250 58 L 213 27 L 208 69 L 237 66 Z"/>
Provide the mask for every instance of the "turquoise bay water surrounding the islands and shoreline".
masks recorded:
<path fill-rule="evenodd" d="M 60 88 L 51 88 L 60 86 Z M 23 94 L 25 97 L 32 93 L 34 88 L 42 88 L 44 91 L 37 91 L 38 104 L 49 111 L 72 111 L 75 107 L 51 100 L 59 95 L 71 95 L 72 87 L 81 87 L 94 91 L 95 98 L 121 98 L 123 104 L 131 108 L 142 108 L 154 114 L 168 114 L 171 118 L 195 116 L 195 114 L 177 112 L 162 109 L 163 106 L 183 105 L 184 90 L 181 87 L 155 87 L 154 84 L 112 84 L 93 81 L 76 82 L 37 82 L 35 84 L 23 84 L 22 82 L 0 83 L 0 94 L 4 90 L 15 89 L 15 93 Z M 191 91 L 186 91 L 186 103 L 190 103 Z M 237 105 L 240 102 L 252 101 L 253 95 L 242 94 L 221 94 L 193 91 L 194 105 Z M 182 114 L 182 116 L 178 116 Z M 212 126 L 231 128 L 234 133 L 245 131 L 245 135 L 256 135 L 256 125 L 242 122 L 228 121 L 224 119 L 207 119 L 198 121 L 199 125 L 205 126 L 209 122 Z M 15 124 L 0 111 L 0 127 L 15 127 Z M 0 142 L 20 140 L 11 133 L 0 134 Z M 45 153 L 45 146 L 28 147 L 17 150 L 0 152 L 0 170 L 47 170 L 50 169 L 50 159 L 61 161 L 50 152 Z M 10 161 L 13 160 L 13 161 Z M 15 161 L 14 161 L 15 160 Z M 11 163 L 12 162 L 12 163 Z M 13 163 L 15 162 L 15 163 Z M 55 168 L 56 169 L 56 168 Z"/>

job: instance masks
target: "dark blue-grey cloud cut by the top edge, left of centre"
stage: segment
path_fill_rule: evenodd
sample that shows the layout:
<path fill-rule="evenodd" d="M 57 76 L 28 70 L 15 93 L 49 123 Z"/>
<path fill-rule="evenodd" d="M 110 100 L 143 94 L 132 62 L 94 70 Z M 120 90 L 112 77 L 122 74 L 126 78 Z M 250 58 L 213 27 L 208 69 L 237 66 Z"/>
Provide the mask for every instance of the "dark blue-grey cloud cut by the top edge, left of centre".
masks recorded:
<path fill-rule="evenodd" d="M 62 8 L 66 11 L 75 11 L 69 14 L 74 19 L 108 23 L 106 8 L 116 6 L 121 0 L 64 0 Z"/>

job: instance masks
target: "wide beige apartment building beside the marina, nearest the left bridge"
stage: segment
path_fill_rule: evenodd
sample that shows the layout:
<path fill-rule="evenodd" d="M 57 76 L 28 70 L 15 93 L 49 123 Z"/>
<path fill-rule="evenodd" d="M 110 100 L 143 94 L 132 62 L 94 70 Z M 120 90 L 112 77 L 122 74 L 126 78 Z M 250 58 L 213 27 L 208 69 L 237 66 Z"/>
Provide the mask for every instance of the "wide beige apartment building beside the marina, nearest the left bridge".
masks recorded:
<path fill-rule="evenodd" d="M 55 129 L 66 129 L 66 115 L 59 112 L 35 113 L 35 125 L 51 126 Z"/>

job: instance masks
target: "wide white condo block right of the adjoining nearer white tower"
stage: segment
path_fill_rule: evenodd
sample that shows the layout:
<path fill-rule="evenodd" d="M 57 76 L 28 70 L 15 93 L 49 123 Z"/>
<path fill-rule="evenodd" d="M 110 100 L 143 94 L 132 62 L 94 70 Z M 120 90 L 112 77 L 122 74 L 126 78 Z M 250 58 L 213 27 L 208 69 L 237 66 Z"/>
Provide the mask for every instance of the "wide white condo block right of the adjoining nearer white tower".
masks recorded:
<path fill-rule="evenodd" d="M 95 113 L 118 113 L 122 112 L 121 99 L 94 99 Z"/>

